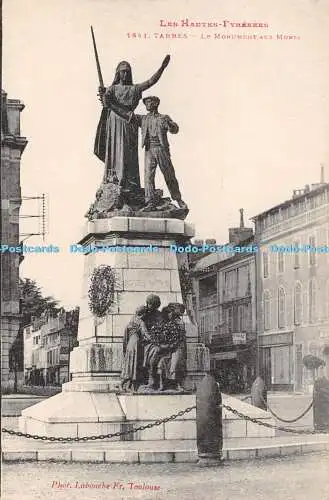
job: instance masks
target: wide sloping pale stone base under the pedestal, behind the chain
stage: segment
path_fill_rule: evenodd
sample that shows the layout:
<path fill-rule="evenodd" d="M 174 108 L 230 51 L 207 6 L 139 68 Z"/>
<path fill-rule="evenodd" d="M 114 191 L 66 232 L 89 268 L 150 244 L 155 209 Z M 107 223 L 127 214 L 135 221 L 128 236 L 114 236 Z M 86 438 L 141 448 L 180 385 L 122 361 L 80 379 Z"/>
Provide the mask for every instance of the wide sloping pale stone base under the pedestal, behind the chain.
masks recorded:
<path fill-rule="evenodd" d="M 223 404 L 244 415 L 273 424 L 268 412 L 255 408 L 230 396 L 223 396 Z M 97 436 L 154 423 L 195 406 L 194 394 L 114 394 L 93 392 L 62 392 L 22 411 L 19 427 L 22 432 L 55 437 Z M 223 410 L 223 437 L 268 438 L 274 430 L 236 417 Z M 196 413 L 190 411 L 175 420 L 161 423 L 143 431 L 129 432 L 110 441 L 160 441 L 179 443 L 196 441 Z M 110 443 L 109 441 L 109 443 Z"/>

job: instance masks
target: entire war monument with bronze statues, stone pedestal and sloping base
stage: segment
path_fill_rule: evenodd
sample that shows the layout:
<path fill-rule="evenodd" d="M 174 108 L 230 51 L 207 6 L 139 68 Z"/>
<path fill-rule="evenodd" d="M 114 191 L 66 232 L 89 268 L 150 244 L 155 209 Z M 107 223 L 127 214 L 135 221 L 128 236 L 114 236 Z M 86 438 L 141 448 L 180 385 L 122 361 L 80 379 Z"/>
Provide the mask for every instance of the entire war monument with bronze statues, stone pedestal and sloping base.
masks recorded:
<path fill-rule="evenodd" d="M 196 388 L 210 360 L 199 342 L 187 254 L 170 250 L 194 236 L 185 222 L 189 210 L 168 141 L 168 133 L 178 133 L 179 126 L 175 117 L 159 111 L 159 97 L 144 96 L 164 74 L 170 56 L 139 84 L 133 83 L 130 64 L 122 61 L 106 88 L 94 48 L 102 104 L 94 153 L 104 173 L 79 241 L 90 249 L 84 256 L 79 345 L 70 356 L 71 380 L 61 393 L 23 410 L 20 430 L 62 438 L 117 433 L 115 440 L 140 441 L 142 450 L 148 441 L 175 441 L 179 450 L 182 440 L 196 439 Z M 139 115 L 141 100 L 146 110 Z M 170 198 L 155 187 L 157 167 Z M 249 406 L 229 400 L 245 411 Z M 161 425 L 134 431 L 161 419 Z M 245 422 L 227 421 L 224 435 L 238 435 L 240 428 L 240 435 L 248 435 Z"/>

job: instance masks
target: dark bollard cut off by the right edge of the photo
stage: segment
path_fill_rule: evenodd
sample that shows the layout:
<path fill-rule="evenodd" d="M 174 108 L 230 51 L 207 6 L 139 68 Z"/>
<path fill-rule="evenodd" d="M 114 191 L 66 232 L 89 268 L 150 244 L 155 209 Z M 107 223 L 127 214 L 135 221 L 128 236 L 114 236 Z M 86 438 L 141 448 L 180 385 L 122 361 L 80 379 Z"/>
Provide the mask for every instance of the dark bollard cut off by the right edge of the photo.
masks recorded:
<path fill-rule="evenodd" d="M 314 382 L 313 423 L 315 431 L 329 432 L 329 380 L 326 377 Z"/>

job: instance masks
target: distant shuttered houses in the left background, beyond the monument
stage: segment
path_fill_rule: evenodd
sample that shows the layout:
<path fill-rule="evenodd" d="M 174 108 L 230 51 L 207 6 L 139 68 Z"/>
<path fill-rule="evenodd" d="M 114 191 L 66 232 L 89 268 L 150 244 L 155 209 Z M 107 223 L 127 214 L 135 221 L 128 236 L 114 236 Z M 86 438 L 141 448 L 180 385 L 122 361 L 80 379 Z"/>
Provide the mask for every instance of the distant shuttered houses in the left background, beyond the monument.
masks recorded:
<path fill-rule="evenodd" d="M 29 385 L 61 385 L 70 380 L 69 358 L 77 345 L 79 309 L 34 318 L 24 328 L 24 378 Z"/>

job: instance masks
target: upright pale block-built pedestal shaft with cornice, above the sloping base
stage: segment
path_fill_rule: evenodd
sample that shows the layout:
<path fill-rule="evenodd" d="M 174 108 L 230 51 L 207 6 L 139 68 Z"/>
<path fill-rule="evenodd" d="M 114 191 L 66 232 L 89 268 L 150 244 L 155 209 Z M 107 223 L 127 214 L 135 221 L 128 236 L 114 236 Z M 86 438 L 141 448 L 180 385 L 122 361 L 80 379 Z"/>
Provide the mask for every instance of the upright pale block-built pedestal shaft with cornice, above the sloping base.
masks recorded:
<path fill-rule="evenodd" d="M 65 391 L 119 391 L 123 333 L 136 308 L 147 295 L 159 295 L 161 306 L 182 302 L 179 265 L 171 245 L 186 242 L 194 228 L 182 220 L 142 217 L 113 217 L 88 222 L 80 241 L 85 251 L 79 347 L 71 353 L 72 381 Z M 93 251 L 95 247 L 116 247 L 116 251 Z M 143 251 L 144 249 L 145 251 Z M 115 274 L 113 304 L 107 314 L 95 317 L 90 311 L 91 277 L 99 266 L 110 266 Z M 198 342 L 198 329 L 186 315 L 186 389 L 209 369 L 209 353 Z"/>

